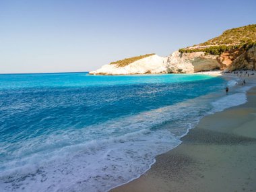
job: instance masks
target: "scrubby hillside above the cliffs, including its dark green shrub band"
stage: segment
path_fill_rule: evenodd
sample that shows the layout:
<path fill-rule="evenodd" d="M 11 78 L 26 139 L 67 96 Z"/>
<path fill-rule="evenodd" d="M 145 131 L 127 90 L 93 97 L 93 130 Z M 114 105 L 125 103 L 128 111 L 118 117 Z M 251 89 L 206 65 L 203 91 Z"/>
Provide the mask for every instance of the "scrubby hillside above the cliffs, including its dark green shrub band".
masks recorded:
<path fill-rule="evenodd" d="M 188 47 L 180 49 L 181 53 L 205 52 L 205 55 L 221 55 L 224 51 L 243 49 L 247 51 L 256 45 L 256 24 L 226 30 L 222 35 L 207 40 L 198 48 Z M 204 46 L 201 47 L 200 46 Z"/>

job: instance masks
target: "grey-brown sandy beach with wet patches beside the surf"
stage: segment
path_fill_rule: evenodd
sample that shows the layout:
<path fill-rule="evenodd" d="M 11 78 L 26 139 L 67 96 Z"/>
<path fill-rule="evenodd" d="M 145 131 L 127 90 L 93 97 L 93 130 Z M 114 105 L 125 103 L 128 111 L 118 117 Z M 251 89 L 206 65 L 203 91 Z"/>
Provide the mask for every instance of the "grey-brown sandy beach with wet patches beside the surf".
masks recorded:
<path fill-rule="evenodd" d="M 255 76 L 239 75 L 238 84 L 253 86 Z M 255 125 L 254 87 L 247 103 L 204 117 L 139 179 L 111 191 L 256 191 Z"/>

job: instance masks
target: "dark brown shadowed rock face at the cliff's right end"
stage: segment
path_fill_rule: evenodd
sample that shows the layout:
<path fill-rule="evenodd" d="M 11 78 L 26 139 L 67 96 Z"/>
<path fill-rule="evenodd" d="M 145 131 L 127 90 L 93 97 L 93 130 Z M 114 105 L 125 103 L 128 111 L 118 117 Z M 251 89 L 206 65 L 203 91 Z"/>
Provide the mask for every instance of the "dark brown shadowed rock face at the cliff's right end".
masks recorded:
<path fill-rule="evenodd" d="M 251 49 L 234 59 L 232 65 L 228 66 L 228 69 L 231 71 L 236 69 L 256 70 L 256 46 L 253 46 Z"/>

